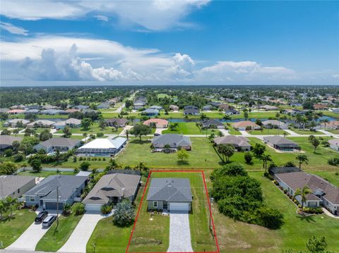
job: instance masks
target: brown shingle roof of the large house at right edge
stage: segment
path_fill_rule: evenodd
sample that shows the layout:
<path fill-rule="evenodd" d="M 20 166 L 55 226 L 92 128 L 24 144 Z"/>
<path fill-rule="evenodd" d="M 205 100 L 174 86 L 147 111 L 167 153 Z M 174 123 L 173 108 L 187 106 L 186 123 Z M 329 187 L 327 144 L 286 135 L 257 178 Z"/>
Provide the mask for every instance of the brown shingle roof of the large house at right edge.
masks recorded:
<path fill-rule="evenodd" d="M 281 173 L 275 175 L 283 180 L 292 190 L 302 188 L 304 185 L 308 185 L 312 192 L 321 190 L 324 192 L 324 198 L 333 204 L 339 204 L 339 188 L 335 187 L 328 181 L 320 178 L 317 175 L 304 173 L 302 171 L 292 173 Z M 311 199 L 310 199 L 311 200 Z"/>

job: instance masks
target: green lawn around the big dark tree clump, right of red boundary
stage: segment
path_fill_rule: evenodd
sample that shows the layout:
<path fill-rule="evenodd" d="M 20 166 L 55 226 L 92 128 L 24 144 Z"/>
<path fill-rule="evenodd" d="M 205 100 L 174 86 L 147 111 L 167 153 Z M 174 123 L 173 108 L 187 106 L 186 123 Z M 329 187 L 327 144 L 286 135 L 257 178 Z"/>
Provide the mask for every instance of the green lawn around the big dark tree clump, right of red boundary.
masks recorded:
<path fill-rule="evenodd" d="M 207 172 L 209 174 L 210 171 Z M 296 214 L 296 206 L 270 180 L 262 176 L 262 172 L 250 172 L 251 177 L 261 183 L 264 202 L 284 214 L 284 225 L 278 230 L 270 230 L 261 226 L 234 221 L 220 214 L 217 204 L 213 204 L 213 218 L 217 230 L 221 253 L 272 252 L 280 253 L 283 249 L 305 249 L 312 235 L 325 236 L 328 249 L 339 251 L 339 223 L 335 218 L 324 214 L 302 218 Z M 206 175 L 206 179 L 208 176 Z M 208 178 L 208 185 L 210 180 Z"/>

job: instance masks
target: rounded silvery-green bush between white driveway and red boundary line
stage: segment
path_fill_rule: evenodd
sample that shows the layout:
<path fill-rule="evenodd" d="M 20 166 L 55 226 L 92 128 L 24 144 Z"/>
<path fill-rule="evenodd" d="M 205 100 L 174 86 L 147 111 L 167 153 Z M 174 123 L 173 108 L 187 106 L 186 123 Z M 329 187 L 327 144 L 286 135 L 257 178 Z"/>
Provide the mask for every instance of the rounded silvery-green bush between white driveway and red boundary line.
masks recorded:
<path fill-rule="evenodd" d="M 119 202 L 114 210 L 113 223 L 118 226 L 128 226 L 133 223 L 135 218 L 135 211 L 131 202 Z"/>

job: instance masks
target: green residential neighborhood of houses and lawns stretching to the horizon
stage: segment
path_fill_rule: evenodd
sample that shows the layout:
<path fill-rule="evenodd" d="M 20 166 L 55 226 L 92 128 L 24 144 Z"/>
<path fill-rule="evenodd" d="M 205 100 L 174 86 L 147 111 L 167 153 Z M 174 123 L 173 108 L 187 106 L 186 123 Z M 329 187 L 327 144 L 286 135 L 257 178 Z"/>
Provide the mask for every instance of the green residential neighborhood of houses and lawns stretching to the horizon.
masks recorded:
<path fill-rule="evenodd" d="M 339 230 L 338 87 L 21 87 L 0 105 L 8 252 L 232 252 L 227 237 L 249 239 L 228 227 L 269 249 Z"/>

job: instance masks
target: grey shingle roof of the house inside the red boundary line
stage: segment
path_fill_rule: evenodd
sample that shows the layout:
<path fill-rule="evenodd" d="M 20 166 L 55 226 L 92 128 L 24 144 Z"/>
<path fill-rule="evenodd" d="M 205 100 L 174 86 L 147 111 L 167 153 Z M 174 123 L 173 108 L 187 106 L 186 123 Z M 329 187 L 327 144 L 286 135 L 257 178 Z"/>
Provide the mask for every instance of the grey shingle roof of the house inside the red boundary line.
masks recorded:
<path fill-rule="evenodd" d="M 148 201 L 192 202 L 188 178 L 153 178 L 147 195 Z"/>

